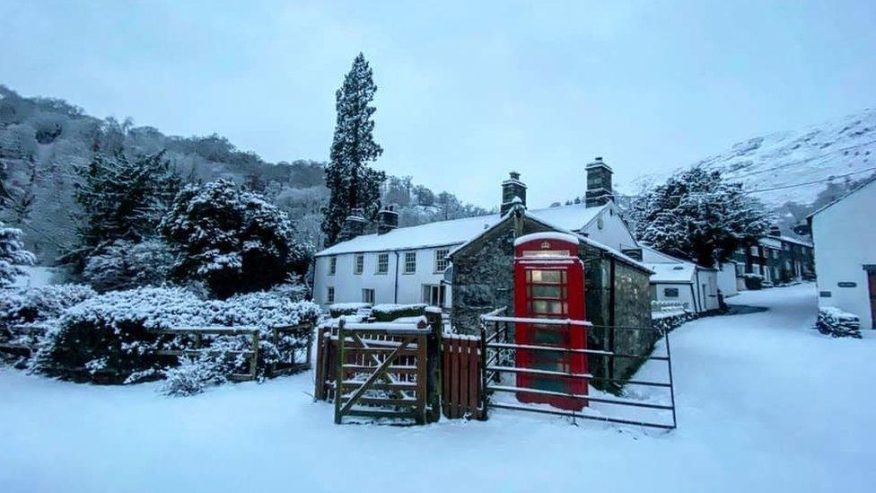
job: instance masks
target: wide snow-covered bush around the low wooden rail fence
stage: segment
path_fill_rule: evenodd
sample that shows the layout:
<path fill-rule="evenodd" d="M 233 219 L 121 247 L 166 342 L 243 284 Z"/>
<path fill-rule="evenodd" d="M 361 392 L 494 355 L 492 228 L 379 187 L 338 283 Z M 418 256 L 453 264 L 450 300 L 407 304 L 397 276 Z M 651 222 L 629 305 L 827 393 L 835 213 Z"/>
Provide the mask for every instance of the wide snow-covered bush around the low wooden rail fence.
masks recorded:
<path fill-rule="evenodd" d="M 159 335 L 155 330 L 191 326 L 258 328 L 258 376 L 270 365 L 288 359 L 290 351 L 309 342 L 310 334 L 272 337 L 277 325 L 316 321 L 318 305 L 293 302 L 273 292 L 234 296 L 226 301 L 205 300 L 181 287 L 145 287 L 113 291 L 67 309 L 49 330 L 31 361 L 41 374 L 76 381 L 133 383 L 164 376 L 162 391 L 188 395 L 206 385 L 223 383 L 242 373 L 250 350 L 248 336 L 205 337 L 204 350 L 170 365 L 162 349 L 195 349 L 185 336 Z M 306 346 L 305 346 L 306 347 Z"/>

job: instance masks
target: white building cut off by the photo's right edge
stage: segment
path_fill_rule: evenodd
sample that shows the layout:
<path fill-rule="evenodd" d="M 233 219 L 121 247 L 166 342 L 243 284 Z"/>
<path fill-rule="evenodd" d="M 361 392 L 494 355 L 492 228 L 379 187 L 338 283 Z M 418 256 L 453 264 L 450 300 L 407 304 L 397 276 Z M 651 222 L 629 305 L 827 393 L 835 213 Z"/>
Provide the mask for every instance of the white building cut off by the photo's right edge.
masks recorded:
<path fill-rule="evenodd" d="M 819 307 L 836 306 L 876 326 L 876 176 L 808 217 Z"/>

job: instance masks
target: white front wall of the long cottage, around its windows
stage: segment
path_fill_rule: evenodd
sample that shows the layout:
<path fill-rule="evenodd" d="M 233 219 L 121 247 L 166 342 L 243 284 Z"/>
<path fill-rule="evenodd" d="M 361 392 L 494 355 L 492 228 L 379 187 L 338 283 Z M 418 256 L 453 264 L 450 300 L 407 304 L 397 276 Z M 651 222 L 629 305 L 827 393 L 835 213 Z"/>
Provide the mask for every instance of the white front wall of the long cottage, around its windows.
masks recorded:
<path fill-rule="evenodd" d="M 363 289 L 374 290 L 375 304 L 415 304 L 423 303 L 423 286 L 440 285 L 444 278 L 443 272 L 434 271 L 434 255 L 439 249 L 452 249 L 453 246 L 425 248 L 416 251 L 416 272 L 405 274 L 406 251 L 365 251 L 364 269 L 362 274 L 354 274 L 355 253 L 335 255 L 337 265 L 335 275 L 329 275 L 329 264 L 332 256 L 316 258 L 313 275 L 313 301 L 323 308 L 329 305 L 329 286 L 335 288 L 334 303 L 359 303 L 363 300 Z M 386 274 L 377 273 L 377 257 L 380 253 L 389 253 L 390 266 Z M 397 262 L 398 260 L 398 262 Z M 396 297 L 396 272 L 398 269 L 398 298 Z M 444 306 L 451 305 L 451 288 L 445 286 Z"/>

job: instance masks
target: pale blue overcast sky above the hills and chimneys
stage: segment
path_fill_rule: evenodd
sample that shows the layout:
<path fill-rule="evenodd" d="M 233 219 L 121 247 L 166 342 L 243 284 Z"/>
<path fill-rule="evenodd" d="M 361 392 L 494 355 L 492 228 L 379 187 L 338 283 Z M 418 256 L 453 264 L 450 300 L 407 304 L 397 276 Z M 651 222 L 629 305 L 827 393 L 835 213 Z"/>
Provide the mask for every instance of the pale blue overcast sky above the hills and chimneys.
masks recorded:
<path fill-rule="evenodd" d="M 477 4 L 477 5 L 472 5 Z M 876 105 L 876 2 L 0 0 L 0 84 L 269 161 L 326 160 L 358 51 L 376 167 L 530 206 Z"/>

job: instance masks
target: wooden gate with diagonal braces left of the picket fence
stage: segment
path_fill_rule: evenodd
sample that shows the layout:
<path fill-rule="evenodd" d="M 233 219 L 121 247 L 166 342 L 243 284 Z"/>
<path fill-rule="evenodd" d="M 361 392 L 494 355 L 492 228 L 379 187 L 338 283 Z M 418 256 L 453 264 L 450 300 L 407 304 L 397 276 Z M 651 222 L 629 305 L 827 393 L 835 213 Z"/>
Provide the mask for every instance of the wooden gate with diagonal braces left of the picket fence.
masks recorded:
<path fill-rule="evenodd" d="M 430 330 L 422 325 L 340 321 L 333 385 L 336 423 L 364 417 L 425 424 Z"/>

